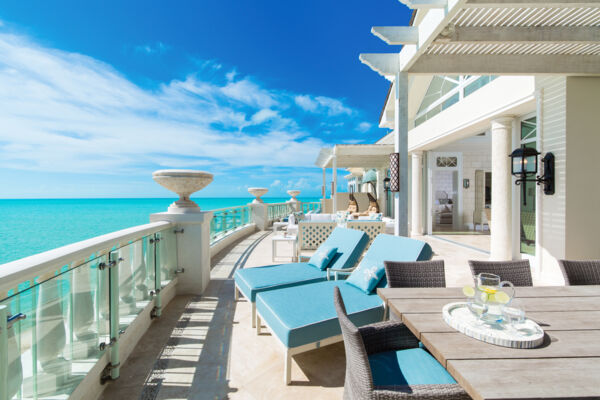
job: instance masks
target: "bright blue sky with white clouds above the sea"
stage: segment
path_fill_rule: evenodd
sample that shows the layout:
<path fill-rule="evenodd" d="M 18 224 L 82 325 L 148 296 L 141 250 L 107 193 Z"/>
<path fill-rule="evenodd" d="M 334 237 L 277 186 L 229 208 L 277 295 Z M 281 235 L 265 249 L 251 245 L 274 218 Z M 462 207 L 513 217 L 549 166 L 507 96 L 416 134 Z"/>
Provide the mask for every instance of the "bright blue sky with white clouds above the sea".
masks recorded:
<path fill-rule="evenodd" d="M 199 196 L 319 195 L 321 147 L 386 134 L 389 82 L 358 55 L 399 51 L 370 29 L 409 19 L 397 0 L 4 1 L 0 198 L 172 196 L 151 179 L 169 168 L 214 174 Z"/>

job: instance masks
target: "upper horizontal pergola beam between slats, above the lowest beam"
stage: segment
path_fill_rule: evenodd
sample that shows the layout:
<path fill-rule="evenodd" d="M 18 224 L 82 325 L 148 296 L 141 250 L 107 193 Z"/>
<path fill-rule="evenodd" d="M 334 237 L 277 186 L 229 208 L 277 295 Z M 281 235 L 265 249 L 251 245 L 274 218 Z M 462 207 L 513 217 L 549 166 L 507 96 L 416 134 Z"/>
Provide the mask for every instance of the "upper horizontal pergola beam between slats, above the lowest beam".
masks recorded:
<path fill-rule="evenodd" d="M 589 43 L 600 42 L 600 27 L 449 26 L 433 43 Z"/>

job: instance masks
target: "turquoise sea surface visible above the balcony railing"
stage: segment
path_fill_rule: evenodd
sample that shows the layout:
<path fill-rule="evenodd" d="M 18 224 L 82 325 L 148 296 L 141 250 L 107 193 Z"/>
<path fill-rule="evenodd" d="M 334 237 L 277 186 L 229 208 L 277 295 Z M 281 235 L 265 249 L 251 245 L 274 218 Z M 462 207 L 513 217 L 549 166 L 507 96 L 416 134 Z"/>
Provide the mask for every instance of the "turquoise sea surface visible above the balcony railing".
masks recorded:
<path fill-rule="evenodd" d="M 253 198 L 193 198 L 203 210 Z M 279 203 L 289 197 L 264 198 Z M 56 247 L 150 222 L 176 199 L 0 199 L 0 265 Z M 317 201 L 317 198 L 299 198 Z"/>

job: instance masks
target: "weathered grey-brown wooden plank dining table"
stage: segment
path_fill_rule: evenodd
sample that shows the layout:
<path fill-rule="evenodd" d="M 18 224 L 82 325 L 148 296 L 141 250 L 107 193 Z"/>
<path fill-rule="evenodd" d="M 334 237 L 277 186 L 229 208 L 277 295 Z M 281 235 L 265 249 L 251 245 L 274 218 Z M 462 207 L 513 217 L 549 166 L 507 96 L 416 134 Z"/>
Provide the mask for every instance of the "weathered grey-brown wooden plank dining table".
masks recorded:
<path fill-rule="evenodd" d="M 385 288 L 378 295 L 474 399 L 600 399 L 600 286 L 518 287 L 545 332 L 535 349 L 485 343 L 451 328 L 442 307 L 460 288 Z"/>

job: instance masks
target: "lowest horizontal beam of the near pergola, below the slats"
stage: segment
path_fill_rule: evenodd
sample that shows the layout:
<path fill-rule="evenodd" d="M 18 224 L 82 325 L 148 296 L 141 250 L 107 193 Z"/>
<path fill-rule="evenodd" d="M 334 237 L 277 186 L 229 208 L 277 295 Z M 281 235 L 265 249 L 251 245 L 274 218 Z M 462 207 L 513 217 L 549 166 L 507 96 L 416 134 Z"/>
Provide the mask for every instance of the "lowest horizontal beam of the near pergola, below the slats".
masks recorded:
<path fill-rule="evenodd" d="M 408 71 L 426 75 L 600 75 L 600 55 L 424 54 Z"/>

